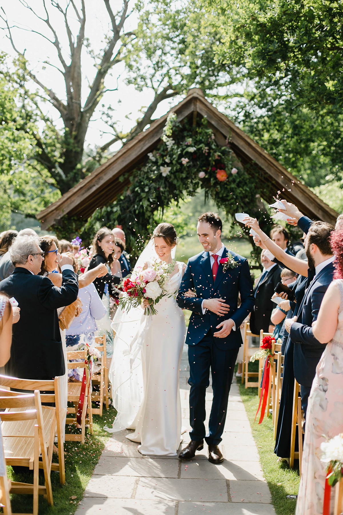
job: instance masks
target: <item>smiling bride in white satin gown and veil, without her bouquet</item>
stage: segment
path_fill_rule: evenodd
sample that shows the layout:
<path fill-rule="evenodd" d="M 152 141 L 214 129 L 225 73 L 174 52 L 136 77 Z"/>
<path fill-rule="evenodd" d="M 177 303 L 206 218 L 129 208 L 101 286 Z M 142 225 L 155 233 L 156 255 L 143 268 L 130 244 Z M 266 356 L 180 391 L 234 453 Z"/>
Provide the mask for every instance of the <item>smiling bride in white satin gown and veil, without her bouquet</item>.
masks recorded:
<path fill-rule="evenodd" d="M 135 269 L 159 259 L 174 261 L 176 232 L 171 224 L 159 224 L 140 255 Z M 144 315 L 142 307 L 128 313 L 117 310 L 112 322 L 116 331 L 109 371 L 112 397 L 118 414 L 112 429 L 134 429 L 127 436 L 139 442 L 141 454 L 175 456 L 180 444 L 181 405 L 179 367 L 186 336 L 185 317 L 176 304 L 185 264 L 175 262 L 156 315 Z"/>

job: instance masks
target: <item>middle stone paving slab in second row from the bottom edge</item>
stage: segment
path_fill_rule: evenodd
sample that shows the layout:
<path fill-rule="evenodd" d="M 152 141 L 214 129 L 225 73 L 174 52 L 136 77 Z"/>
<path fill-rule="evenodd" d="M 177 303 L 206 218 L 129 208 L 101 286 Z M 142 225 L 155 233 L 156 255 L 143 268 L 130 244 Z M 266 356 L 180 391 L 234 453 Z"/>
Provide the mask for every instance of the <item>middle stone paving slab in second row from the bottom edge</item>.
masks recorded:
<path fill-rule="evenodd" d="M 139 479 L 136 499 L 228 502 L 225 479 Z"/>

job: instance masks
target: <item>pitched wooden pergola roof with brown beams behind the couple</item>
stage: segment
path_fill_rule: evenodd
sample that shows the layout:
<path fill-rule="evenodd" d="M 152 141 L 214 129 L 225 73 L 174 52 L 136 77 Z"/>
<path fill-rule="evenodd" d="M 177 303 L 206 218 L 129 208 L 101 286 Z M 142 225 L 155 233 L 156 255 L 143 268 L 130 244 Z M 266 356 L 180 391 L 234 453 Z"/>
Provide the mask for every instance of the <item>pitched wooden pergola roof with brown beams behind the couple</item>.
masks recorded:
<path fill-rule="evenodd" d="M 215 141 L 225 145 L 227 138 L 242 165 L 254 163 L 261 181 L 272 186 L 275 194 L 293 202 L 300 211 L 312 219 L 335 224 L 337 213 L 318 198 L 308 187 L 287 171 L 263 148 L 234 125 L 224 114 L 208 102 L 202 90 L 193 88 L 187 97 L 171 109 L 179 122 L 187 117 L 206 116 L 213 130 Z M 52 227 L 62 216 L 77 216 L 86 220 L 98 208 L 114 202 L 130 185 L 130 171 L 135 170 L 160 142 L 168 113 L 156 120 L 145 132 L 138 134 L 124 145 L 115 156 L 99 166 L 92 174 L 71 188 L 59 200 L 41 211 L 37 218 L 42 229 Z M 129 174 L 127 174 L 129 172 Z M 125 179 L 120 179 L 125 174 Z"/>

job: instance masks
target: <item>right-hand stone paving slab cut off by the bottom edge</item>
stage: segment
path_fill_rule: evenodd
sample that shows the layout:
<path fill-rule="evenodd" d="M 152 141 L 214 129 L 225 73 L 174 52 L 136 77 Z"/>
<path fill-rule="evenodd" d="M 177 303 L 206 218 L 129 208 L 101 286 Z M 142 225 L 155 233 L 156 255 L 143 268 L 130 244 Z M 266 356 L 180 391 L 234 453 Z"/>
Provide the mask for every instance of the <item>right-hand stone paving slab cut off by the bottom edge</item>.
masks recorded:
<path fill-rule="evenodd" d="M 212 515 L 275 515 L 275 510 L 271 504 L 179 503 L 178 515 L 202 515 L 203 513 L 212 513 Z"/>

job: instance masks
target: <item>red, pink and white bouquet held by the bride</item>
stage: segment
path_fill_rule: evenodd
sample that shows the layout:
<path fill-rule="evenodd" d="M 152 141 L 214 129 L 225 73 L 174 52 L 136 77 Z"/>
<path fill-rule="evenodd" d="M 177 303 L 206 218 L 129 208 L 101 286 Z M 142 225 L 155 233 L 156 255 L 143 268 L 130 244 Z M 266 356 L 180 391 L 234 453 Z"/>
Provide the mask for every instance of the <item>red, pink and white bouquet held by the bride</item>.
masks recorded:
<path fill-rule="evenodd" d="M 144 314 L 156 315 L 155 304 L 161 298 L 171 296 L 166 288 L 166 282 L 174 267 L 174 260 L 170 264 L 154 260 L 146 269 L 137 267 L 131 277 L 122 283 L 122 289 L 126 295 L 119 300 L 120 307 L 130 311 L 131 307 L 138 307 L 143 300 L 147 299 L 149 306 L 145 308 Z"/>

